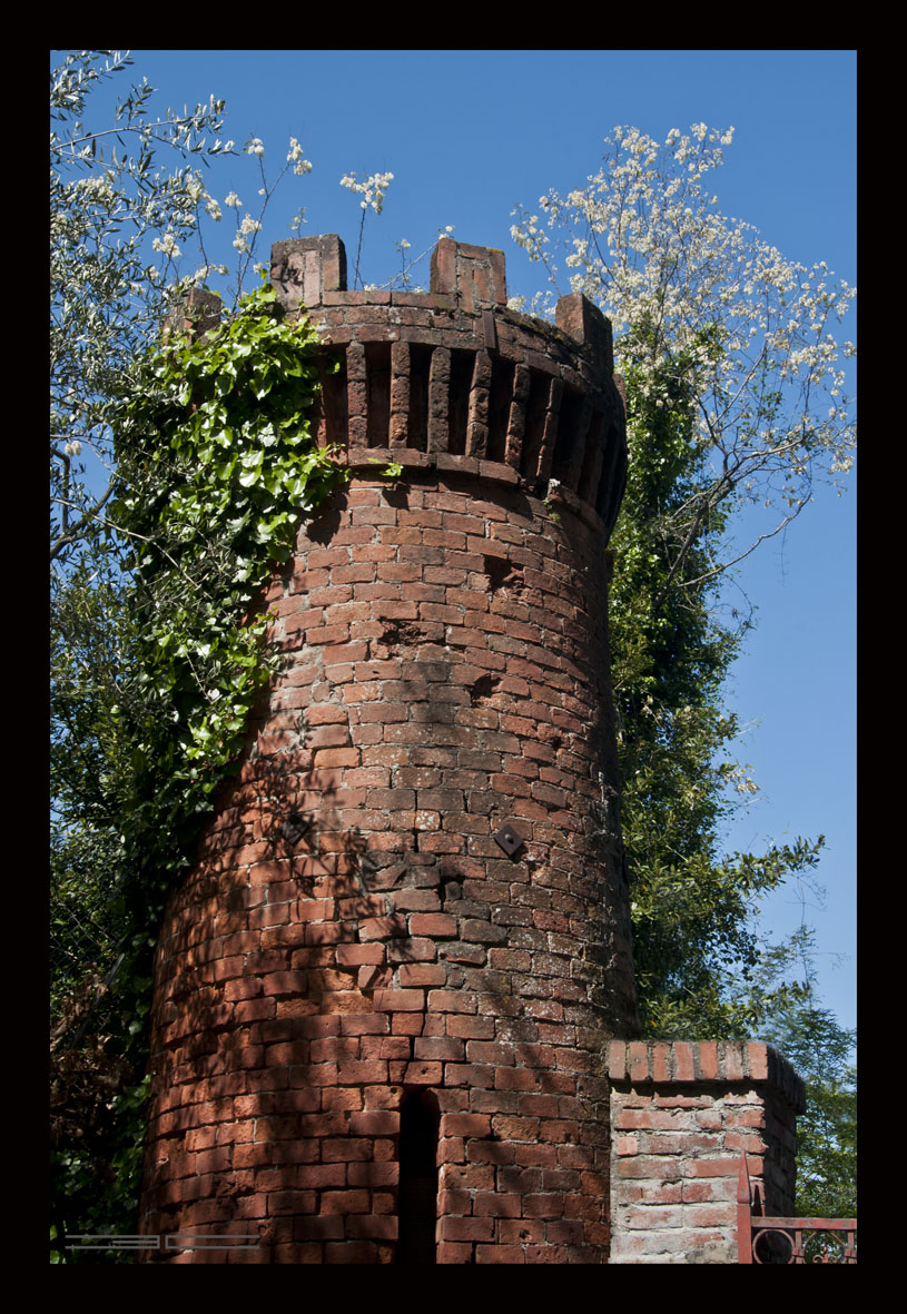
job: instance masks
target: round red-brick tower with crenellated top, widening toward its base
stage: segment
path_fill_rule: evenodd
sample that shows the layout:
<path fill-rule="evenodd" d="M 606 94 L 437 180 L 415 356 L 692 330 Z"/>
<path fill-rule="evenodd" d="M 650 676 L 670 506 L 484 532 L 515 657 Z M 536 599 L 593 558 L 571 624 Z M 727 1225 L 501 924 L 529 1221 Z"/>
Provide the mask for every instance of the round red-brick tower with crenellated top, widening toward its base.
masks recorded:
<path fill-rule="evenodd" d="M 272 265 L 351 480 L 273 579 L 283 674 L 164 917 L 142 1230 L 171 1263 L 603 1263 L 638 1030 L 610 326 L 507 310 L 503 255 L 450 239 L 427 294 L 346 290 L 337 237 Z"/>

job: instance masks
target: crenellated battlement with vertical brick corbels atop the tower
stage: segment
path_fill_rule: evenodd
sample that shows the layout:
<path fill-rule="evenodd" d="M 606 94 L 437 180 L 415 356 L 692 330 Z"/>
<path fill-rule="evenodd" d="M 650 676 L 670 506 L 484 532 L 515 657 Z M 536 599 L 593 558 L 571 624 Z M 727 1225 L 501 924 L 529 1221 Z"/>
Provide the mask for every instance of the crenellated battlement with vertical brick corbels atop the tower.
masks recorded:
<path fill-rule="evenodd" d="M 276 242 L 271 281 L 323 325 L 321 445 L 351 465 L 404 466 L 521 485 L 603 522 L 623 494 L 627 444 L 611 326 L 581 293 L 555 325 L 507 309 L 502 251 L 442 238 L 430 292 L 348 290 L 335 234 Z"/>

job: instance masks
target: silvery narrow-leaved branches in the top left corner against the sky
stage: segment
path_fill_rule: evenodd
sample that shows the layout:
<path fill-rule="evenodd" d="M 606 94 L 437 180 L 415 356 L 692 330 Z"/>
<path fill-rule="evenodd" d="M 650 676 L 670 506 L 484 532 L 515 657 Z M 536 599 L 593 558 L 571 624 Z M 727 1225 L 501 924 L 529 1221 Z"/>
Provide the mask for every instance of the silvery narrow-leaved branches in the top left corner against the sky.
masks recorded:
<path fill-rule="evenodd" d="M 110 126 L 87 125 L 89 96 L 130 64 L 118 51 L 74 51 L 50 80 L 50 555 L 60 564 L 103 523 L 112 409 L 177 290 L 179 243 L 198 230 L 206 193 L 191 162 L 233 150 L 216 135 L 223 101 L 156 118 L 146 80 L 117 101 Z"/>

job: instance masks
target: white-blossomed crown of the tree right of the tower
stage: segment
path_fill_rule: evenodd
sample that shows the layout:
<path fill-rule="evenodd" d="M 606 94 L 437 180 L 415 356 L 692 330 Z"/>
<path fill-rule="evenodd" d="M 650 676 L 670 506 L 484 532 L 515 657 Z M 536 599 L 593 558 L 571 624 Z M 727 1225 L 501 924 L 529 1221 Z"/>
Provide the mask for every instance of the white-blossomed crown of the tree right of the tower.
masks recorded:
<path fill-rule="evenodd" d="M 610 318 L 616 368 L 632 365 L 656 407 L 669 405 L 672 371 L 682 372 L 716 477 L 732 468 L 744 498 L 795 514 L 814 473 L 837 482 L 853 463 L 841 361 L 854 350 L 831 330 L 856 289 L 720 213 L 706 183 L 732 138 L 733 129 L 695 124 L 660 145 L 615 127 L 598 172 L 543 196 L 538 213 L 514 210 L 511 235 L 555 286 L 563 260 L 569 290 Z"/>

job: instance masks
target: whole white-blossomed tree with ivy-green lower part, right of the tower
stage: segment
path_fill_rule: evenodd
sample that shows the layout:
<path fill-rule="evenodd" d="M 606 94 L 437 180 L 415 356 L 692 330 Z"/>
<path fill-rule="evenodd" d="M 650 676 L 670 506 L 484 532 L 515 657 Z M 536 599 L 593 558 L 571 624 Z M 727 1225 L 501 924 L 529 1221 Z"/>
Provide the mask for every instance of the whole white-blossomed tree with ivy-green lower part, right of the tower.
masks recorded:
<path fill-rule="evenodd" d="M 794 519 L 815 480 L 841 486 L 856 428 L 829 327 L 853 289 L 807 269 L 707 191 L 733 130 L 614 130 L 597 173 L 514 239 L 611 319 L 630 469 L 615 527 L 614 687 L 635 961 L 651 1034 L 748 1034 L 752 911 L 818 861 L 822 837 L 723 855 L 756 784 L 733 761 L 724 686 L 751 618 L 722 622 L 733 565 Z M 559 289 L 560 290 L 560 289 Z M 544 298 L 536 301 L 544 309 Z M 765 527 L 747 540 L 741 512 Z M 743 978 L 741 978 L 743 974 Z"/>

